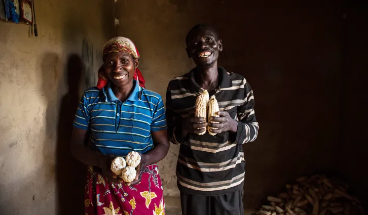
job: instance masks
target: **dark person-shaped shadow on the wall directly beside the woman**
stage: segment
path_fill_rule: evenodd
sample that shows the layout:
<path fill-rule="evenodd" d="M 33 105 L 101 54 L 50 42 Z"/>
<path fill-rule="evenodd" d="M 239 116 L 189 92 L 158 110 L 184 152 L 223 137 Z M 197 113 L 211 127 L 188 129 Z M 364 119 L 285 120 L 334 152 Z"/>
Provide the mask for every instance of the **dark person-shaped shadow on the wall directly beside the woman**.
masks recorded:
<path fill-rule="evenodd" d="M 83 191 L 87 168 L 71 155 L 69 147 L 72 123 L 80 100 L 78 86 L 84 70 L 81 57 L 77 54 L 70 55 L 66 72 L 68 92 L 61 100 L 57 128 L 56 162 L 58 171 L 56 179 L 59 215 L 84 213 Z"/>

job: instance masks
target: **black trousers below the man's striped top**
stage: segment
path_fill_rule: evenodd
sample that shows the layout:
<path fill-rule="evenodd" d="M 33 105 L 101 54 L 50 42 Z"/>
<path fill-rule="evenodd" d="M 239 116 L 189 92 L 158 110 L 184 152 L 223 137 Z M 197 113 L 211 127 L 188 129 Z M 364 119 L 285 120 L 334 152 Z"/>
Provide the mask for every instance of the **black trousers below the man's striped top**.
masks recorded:
<path fill-rule="evenodd" d="M 180 192 L 182 215 L 244 215 L 243 192 L 194 196 Z"/>

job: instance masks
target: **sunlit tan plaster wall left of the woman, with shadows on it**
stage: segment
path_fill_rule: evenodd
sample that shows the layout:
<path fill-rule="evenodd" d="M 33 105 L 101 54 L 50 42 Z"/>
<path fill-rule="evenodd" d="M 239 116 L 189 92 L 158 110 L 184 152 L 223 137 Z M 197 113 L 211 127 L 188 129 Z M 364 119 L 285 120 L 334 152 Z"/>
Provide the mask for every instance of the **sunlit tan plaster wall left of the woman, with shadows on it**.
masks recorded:
<path fill-rule="evenodd" d="M 0 22 L 0 214 L 83 214 L 85 167 L 69 153 L 95 84 L 114 1 L 35 1 L 39 36 Z"/>

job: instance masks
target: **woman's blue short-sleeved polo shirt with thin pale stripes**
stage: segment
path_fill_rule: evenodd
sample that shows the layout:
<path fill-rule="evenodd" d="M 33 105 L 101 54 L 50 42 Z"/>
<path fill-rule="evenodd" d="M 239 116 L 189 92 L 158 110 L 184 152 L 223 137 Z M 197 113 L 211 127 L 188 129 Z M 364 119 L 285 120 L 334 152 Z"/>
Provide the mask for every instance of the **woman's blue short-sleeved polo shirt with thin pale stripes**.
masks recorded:
<path fill-rule="evenodd" d="M 73 125 L 91 131 L 92 150 L 118 156 L 130 151 L 143 154 L 153 148 L 151 132 L 166 129 L 161 96 L 133 81 L 125 102 L 116 98 L 109 83 L 102 90 L 94 87 L 84 92 Z"/>

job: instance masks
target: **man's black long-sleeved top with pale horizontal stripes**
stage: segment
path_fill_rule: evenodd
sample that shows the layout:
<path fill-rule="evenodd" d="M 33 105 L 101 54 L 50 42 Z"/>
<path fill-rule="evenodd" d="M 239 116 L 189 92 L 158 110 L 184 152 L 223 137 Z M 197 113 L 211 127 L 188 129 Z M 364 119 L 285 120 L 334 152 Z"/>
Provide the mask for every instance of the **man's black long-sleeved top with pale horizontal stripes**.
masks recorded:
<path fill-rule="evenodd" d="M 193 195 L 222 195 L 242 189 L 245 159 L 243 143 L 252 142 L 258 135 L 254 114 L 254 96 L 249 83 L 236 73 L 219 68 L 219 87 L 215 95 L 221 111 L 227 111 L 238 121 L 236 134 L 223 132 L 215 136 L 181 136 L 180 121 L 195 110 L 199 86 L 194 70 L 172 79 L 166 92 L 166 115 L 170 141 L 180 144 L 176 165 L 178 187 Z M 184 139 L 187 139 L 185 141 Z"/>

